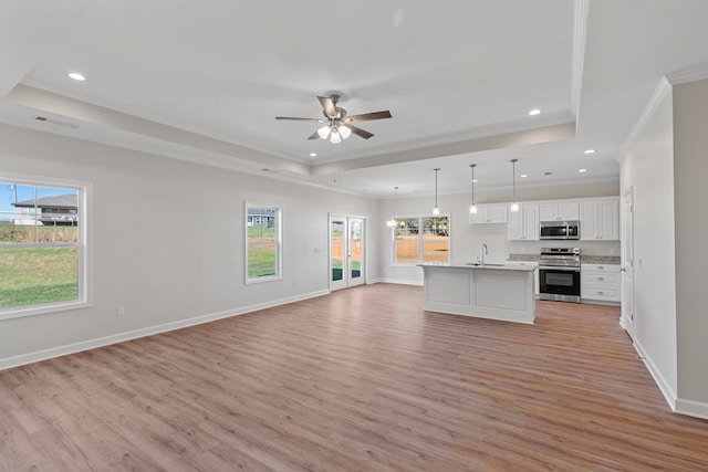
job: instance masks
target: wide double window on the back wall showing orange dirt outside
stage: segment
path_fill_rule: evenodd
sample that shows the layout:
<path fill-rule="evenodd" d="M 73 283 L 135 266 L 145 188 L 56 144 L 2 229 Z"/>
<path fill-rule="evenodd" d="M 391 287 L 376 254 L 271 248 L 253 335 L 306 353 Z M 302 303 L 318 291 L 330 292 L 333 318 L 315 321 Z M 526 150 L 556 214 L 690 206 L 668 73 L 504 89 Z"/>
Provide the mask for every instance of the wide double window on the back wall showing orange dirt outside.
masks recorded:
<path fill-rule="evenodd" d="M 396 217 L 394 263 L 449 262 L 449 217 Z"/>

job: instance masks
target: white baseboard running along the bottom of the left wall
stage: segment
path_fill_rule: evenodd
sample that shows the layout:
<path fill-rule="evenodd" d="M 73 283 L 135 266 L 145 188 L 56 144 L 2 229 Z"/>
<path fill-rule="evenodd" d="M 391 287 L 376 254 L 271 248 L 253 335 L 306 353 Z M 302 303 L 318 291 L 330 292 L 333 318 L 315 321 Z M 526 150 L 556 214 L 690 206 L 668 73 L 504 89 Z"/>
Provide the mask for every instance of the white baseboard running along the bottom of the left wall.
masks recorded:
<path fill-rule="evenodd" d="M 82 350 L 95 349 L 97 347 L 108 346 L 111 344 L 123 343 L 126 340 L 137 339 L 139 337 L 145 337 L 145 336 L 152 336 L 159 333 L 167 333 L 175 329 L 181 329 L 189 326 L 196 326 L 204 323 L 214 322 L 217 319 L 229 318 L 231 316 L 243 315 L 246 313 L 257 312 L 259 310 L 271 308 L 273 306 L 300 302 L 303 300 L 314 298 L 317 296 L 323 296 L 329 294 L 330 294 L 329 290 L 322 290 L 322 291 L 311 292 L 311 293 L 292 296 L 288 298 L 273 300 L 266 303 L 243 306 L 241 308 L 228 310 L 228 311 L 218 312 L 218 313 L 210 313 L 208 315 L 196 316 L 194 318 L 179 319 L 176 322 L 135 329 L 132 332 L 98 337 L 95 339 L 82 340 L 80 343 L 52 347 L 50 349 L 38 350 L 34 353 L 22 354 L 19 356 L 7 357 L 4 359 L 0 359 L 0 370 L 6 370 L 12 367 L 19 367 L 27 364 L 38 363 L 40 360 L 46 360 L 46 359 L 52 359 L 54 357 L 65 356 L 67 354 L 81 353 Z"/>

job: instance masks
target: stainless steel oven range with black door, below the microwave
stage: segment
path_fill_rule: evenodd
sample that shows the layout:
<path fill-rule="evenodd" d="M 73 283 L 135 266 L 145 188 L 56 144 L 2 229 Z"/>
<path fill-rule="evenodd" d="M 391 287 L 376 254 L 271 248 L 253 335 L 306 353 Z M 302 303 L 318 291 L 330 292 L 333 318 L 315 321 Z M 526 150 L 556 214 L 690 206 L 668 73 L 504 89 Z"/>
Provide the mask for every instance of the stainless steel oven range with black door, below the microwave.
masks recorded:
<path fill-rule="evenodd" d="M 542 248 L 539 298 L 580 303 L 580 248 Z"/>

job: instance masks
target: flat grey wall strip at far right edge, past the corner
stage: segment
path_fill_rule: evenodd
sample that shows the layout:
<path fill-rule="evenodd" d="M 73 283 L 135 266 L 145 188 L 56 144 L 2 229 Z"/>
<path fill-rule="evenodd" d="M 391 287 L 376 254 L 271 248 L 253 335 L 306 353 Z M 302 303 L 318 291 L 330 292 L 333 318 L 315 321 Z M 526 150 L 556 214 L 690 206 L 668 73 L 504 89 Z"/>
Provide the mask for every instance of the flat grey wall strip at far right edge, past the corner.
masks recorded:
<path fill-rule="evenodd" d="M 674 87 L 678 410 L 708 419 L 708 80 Z"/>

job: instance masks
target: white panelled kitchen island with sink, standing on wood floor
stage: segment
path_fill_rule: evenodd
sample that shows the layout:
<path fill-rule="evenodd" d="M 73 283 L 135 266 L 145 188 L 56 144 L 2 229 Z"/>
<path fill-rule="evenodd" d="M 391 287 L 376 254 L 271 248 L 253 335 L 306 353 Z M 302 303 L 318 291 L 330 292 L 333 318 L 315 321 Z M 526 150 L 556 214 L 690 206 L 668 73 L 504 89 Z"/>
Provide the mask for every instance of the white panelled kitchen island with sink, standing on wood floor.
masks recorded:
<path fill-rule="evenodd" d="M 418 264 L 428 312 L 533 324 L 535 266 Z"/>

